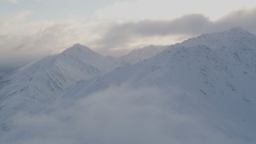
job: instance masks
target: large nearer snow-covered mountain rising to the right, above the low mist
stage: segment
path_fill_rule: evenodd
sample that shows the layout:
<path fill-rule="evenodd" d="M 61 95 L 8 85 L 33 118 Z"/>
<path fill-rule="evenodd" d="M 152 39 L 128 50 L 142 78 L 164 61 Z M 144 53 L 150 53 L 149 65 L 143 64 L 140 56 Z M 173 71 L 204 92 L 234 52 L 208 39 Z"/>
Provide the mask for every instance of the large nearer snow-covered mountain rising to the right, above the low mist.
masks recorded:
<path fill-rule="evenodd" d="M 134 89 L 157 87 L 167 95 L 170 112 L 201 118 L 207 126 L 203 129 L 229 139 L 221 143 L 256 142 L 256 36 L 245 30 L 191 38 L 154 58 L 81 82 L 63 97 L 85 98 L 123 84 Z M 178 132 L 190 142 L 186 133 L 187 129 Z M 198 133 L 194 138 L 202 139 L 196 143 L 208 143 L 212 137 Z"/>

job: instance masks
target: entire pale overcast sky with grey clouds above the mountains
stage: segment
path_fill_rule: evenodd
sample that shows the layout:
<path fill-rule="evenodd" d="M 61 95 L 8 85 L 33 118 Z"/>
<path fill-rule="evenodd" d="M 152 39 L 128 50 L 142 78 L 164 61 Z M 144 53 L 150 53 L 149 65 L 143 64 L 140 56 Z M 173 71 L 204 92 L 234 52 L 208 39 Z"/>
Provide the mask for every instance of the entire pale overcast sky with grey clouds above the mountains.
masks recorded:
<path fill-rule="evenodd" d="M 0 73 L 81 43 L 120 55 L 242 26 L 256 0 L 0 0 Z"/>

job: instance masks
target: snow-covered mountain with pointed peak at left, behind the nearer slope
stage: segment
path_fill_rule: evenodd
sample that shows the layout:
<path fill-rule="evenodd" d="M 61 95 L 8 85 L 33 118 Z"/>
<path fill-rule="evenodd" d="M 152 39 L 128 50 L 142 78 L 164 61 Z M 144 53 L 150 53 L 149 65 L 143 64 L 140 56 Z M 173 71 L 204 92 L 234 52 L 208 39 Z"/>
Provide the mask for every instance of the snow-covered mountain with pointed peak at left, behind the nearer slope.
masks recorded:
<path fill-rule="evenodd" d="M 106 74 L 118 65 L 113 58 L 75 44 L 61 54 L 49 56 L 22 67 L 0 79 L 0 118 L 37 102 L 47 102 L 78 81 Z M 3 122 L 3 121 L 2 121 Z M 0 124 L 2 130 L 6 129 Z"/>

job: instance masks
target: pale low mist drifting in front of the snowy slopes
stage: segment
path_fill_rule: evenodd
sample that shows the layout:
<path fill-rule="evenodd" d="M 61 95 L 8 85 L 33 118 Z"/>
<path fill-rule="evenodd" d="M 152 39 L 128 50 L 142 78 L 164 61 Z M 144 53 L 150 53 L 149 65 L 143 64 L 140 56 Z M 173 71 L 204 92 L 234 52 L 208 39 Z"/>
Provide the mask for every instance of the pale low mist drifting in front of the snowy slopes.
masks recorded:
<path fill-rule="evenodd" d="M 179 94 L 179 93 L 177 93 Z M 183 94 L 184 95 L 184 94 Z M 182 114 L 175 96 L 157 88 L 115 86 L 72 106 L 18 114 L 0 142 L 10 144 L 200 144 L 241 143 L 196 114 Z M 73 103 L 72 96 L 68 100 Z M 68 102 L 68 103 L 69 103 Z M 182 106 L 181 106 L 182 107 Z"/>

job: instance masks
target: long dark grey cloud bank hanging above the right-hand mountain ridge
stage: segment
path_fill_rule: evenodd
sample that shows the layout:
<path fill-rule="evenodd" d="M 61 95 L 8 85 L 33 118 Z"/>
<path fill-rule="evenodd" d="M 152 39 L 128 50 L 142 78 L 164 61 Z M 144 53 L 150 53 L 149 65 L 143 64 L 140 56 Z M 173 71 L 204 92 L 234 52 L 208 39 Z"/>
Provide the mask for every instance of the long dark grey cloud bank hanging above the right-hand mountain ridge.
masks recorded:
<path fill-rule="evenodd" d="M 116 47 L 136 42 L 143 38 L 164 38 L 167 36 L 175 38 L 181 35 L 192 37 L 199 34 L 228 30 L 235 26 L 241 26 L 245 30 L 256 33 L 255 22 L 256 8 L 234 11 L 217 21 L 210 21 L 209 18 L 202 14 L 188 14 L 173 20 L 114 23 L 99 43 L 102 46 Z"/>

